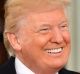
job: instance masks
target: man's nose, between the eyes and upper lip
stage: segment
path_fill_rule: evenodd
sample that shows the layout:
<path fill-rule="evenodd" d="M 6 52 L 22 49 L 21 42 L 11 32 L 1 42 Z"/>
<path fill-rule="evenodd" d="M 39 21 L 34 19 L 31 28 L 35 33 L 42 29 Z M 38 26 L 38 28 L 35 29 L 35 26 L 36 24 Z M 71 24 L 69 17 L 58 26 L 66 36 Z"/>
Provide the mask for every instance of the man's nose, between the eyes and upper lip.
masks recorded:
<path fill-rule="evenodd" d="M 60 44 L 63 42 L 63 34 L 59 29 L 54 29 L 51 33 L 51 40 L 52 43 Z"/>

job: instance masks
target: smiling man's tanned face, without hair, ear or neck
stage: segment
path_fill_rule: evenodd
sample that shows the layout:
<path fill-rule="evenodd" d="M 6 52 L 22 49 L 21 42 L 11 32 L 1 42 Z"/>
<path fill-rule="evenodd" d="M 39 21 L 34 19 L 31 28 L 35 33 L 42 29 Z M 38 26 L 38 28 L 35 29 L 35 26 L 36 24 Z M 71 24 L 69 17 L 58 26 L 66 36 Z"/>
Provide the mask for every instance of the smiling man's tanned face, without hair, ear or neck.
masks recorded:
<path fill-rule="evenodd" d="M 68 59 L 70 35 L 64 9 L 30 13 L 19 22 L 23 62 L 34 69 L 60 68 Z"/>

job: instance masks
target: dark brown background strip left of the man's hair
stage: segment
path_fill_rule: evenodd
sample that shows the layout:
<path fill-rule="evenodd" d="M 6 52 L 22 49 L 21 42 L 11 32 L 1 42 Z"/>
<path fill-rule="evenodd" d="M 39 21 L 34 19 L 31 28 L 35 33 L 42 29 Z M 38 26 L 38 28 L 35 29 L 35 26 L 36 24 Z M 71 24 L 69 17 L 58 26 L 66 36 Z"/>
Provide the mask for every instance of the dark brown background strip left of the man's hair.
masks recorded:
<path fill-rule="evenodd" d="M 5 63 L 8 60 L 8 52 L 3 42 L 3 30 L 4 30 L 4 3 L 6 0 L 0 0 L 0 64 Z"/>

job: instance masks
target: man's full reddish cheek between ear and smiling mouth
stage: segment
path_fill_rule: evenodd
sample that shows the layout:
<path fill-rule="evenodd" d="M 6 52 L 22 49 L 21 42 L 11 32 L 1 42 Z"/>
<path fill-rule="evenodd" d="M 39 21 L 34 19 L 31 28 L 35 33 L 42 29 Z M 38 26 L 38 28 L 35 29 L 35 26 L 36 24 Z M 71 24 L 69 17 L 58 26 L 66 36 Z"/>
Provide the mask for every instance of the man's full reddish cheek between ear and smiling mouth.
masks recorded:
<path fill-rule="evenodd" d="M 27 55 L 28 57 L 39 57 L 41 55 L 42 50 L 44 50 L 45 45 L 48 42 L 48 38 L 45 38 L 44 36 L 36 36 L 28 38 L 28 40 L 25 40 L 24 45 L 22 46 L 23 53 Z M 25 51 L 25 52 L 24 52 Z M 36 53 L 37 52 L 37 53 Z M 37 56 L 35 56 L 37 55 Z"/>

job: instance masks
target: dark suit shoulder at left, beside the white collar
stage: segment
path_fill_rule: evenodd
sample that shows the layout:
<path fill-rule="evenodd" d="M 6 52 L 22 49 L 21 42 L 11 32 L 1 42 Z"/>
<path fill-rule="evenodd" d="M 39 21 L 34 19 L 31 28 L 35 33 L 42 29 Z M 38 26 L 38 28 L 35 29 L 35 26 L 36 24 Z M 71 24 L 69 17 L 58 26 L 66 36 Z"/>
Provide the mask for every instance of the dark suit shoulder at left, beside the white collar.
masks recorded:
<path fill-rule="evenodd" d="M 15 58 L 11 57 L 5 64 L 0 65 L 0 74 L 16 74 L 14 61 Z"/>

